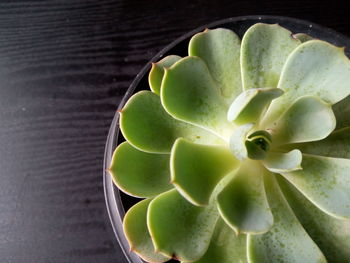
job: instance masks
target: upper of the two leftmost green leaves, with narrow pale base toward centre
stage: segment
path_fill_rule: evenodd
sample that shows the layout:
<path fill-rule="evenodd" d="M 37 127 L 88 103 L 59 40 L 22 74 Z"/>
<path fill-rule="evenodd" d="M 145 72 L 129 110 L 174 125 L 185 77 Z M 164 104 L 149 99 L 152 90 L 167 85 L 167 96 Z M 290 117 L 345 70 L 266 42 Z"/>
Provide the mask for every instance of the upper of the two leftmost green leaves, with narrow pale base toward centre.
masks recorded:
<path fill-rule="evenodd" d="M 120 129 L 132 146 L 153 153 L 169 153 L 178 137 L 207 144 L 221 141 L 203 129 L 172 118 L 163 109 L 159 96 L 150 91 L 140 91 L 129 99 L 121 111 Z"/>

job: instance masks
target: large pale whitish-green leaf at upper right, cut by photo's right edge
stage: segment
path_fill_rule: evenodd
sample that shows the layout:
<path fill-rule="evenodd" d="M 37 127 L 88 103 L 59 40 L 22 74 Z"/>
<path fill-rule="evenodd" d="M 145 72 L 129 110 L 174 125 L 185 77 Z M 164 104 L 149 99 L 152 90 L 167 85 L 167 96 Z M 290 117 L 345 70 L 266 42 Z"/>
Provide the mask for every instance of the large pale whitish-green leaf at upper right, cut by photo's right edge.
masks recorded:
<path fill-rule="evenodd" d="M 283 67 L 278 88 L 284 95 L 269 108 L 265 123 L 271 123 L 300 96 L 317 96 L 335 104 L 350 94 L 350 62 L 344 48 L 321 40 L 301 44 Z"/>

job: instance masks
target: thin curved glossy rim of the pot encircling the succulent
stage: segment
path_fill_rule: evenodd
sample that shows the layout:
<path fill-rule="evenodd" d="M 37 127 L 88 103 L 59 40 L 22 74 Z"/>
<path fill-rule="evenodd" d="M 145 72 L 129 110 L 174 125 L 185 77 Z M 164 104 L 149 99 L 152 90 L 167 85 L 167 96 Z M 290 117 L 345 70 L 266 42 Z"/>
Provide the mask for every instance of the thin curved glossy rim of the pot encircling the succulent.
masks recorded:
<path fill-rule="evenodd" d="M 239 22 L 244 20 L 256 20 L 256 23 L 258 22 L 266 22 L 266 20 L 275 20 L 277 22 L 283 22 L 288 21 L 290 23 L 296 24 L 296 25 L 302 25 L 304 27 L 309 27 L 310 30 L 317 29 L 322 32 L 327 32 L 329 35 L 334 37 L 335 39 L 338 39 L 339 42 L 342 43 L 349 43 L 350 45 L 350 38 L 347 36 L 338 33 L 337 31 L 323 27 L 321 25 L 305 21 L 302 19 L 297 18 L 291 18 L 291 17 L 284 17 L 284 16 L 271 16 L 271 15 L 249 15 L 249 16 L 238 16 L 238 17 L 230 17 L 226 19 L 221 19 L 206 25 L 202 25 L 194 30 L 191 30 L 190 32 L 182 35 L 181 37 L 177 38 L 173 42 L 171 42 L 169 45 L 167 45 L 165 48 L 163 48 L 161 51 L 159 51 L 137 74 L 135 79 L 132 81 L 131 85 L 129 86 L 127 92 L 125 93 L 123 99 L 121 100 L 118 110 L 120 110 L 127 100 L 131 97 L 131 95 L 134 93 L 137 85 L 139 84 L 140 80 L 145 76 L 145 74 L 150 70 L 151 63 L 159 61 L 164 54 L 166 54 L 168 51 L 170 51 L 172 48 L 174 48 L 176 45 L 178 45 L 180 42 L 188 39 L 192 35 L 203 31 L 206 28 L 214 28 L 223 24 L 227 23 L 233 23 L 233 22 Z M 347 45 L 349 47 L 349 45 Z M 348 50 L 347 50 L 348 51 Z M 349 52 L 349 51 L 348 51 Z M 114 186 L 113 180 L 108 173 L 108 167 L 110 166 L 112 154 L 114 149 L 117 146 L 117 140 L 118 140 L 118 134 L 119 134 L 119 114 L 118 112 L 114 115 L 114 118 L 112 120 L 109 133 L 107 136 L 107 142 L 105 146 L 105 153 L 104 153 L 104 163 L 103 163 L 103 186 L 104 186 L 104 195 L 105 195 L 105 202 L 107 207 L 108 216 L 110 219 L 110 222 L 112 224 L 112 228 L 114 231 L 114 234 L 119 242 L 119 245 L 124 252 L 125 257 L 127 258 L 128 262 L 130 263 L 143 263 L 144 261 L 141 260 L 136 254 L 130 253 L 130 248 L 127 243 L 126 237 L 123 232 L 122 227 L 122 220 L 125 215 L 124 208 L 121 203 L 120 199 L 120 192 L 119 189 Z"/>

